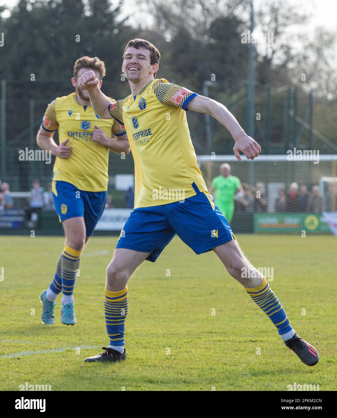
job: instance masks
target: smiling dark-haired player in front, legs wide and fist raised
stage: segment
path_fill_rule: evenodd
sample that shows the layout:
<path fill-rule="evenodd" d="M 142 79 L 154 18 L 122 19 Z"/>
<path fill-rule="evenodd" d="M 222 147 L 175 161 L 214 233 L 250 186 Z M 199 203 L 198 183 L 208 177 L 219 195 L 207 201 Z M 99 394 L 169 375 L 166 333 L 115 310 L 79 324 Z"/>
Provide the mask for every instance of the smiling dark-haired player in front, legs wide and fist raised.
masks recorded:
<path fill-rule="evenodd" d="M 317 350 L 296 334 L 268 281 L 247 260 L 227 219 L 207 191 L 189 135 L 186 110 L 207 113 L 224 125 L 235 140 L 233 151 L 239 161 L 240 151 L 248 159 L 258 157 L 260 146 L 222 104 L 166 79 L 156 79 L 159 59 L 159 51 L 152 43 L 143 39 L 129 41 L 122 71 L 131 94 L 117 102 L 111 102 L 101 92 L 94 71 L 85 72 L 80 79 L 94 111 L 102 119 L 114 118 L 125 125 L 135 161 L 135 209 L 107 267 L 104 306 L 110 345 L 103 347 L 102 354 L 84 361 L 126 358 L 128 280 L 144 260 L 156 261 L 178 234 L 197 254 L 213 250 L 276 326 L 286 346 L 305 364 L 316 364 Z M 162 190 L 178 193 L 158 193 Z M 243 271 L 250 274 L 243 275 Z"/>

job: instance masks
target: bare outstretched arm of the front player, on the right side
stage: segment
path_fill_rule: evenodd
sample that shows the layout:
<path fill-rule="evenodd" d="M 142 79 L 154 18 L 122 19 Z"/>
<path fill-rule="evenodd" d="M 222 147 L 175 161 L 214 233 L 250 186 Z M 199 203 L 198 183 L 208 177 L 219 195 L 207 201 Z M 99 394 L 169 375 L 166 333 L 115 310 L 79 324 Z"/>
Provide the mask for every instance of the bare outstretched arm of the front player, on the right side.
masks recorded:
<path fill-rule="evenodd" d="M 239 122 L 223 104 L 209 97 L 196 96 L 188 102 L 186 108 L 194 112 L 207 113 L 224 125 L 235 140 L 233 151 L 239 161 L 241 160 L 239 151 L 252 160 L 260 154 L 260 145 L 245 133 Z"/>

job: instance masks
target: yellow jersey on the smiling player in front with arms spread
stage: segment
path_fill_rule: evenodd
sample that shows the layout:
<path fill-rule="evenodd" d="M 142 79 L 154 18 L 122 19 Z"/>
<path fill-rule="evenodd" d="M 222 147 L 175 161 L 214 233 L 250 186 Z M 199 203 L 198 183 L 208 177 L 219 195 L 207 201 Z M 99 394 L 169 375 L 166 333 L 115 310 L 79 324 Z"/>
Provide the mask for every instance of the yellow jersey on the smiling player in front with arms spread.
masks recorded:
<path fill-rule="evenodd" d="M 189 134 L 186 105 L 197 94 L 165 79 L 109 105 L 125 125 L 135 161 L 135 208 L 168 204 L 207 191 Z"/>

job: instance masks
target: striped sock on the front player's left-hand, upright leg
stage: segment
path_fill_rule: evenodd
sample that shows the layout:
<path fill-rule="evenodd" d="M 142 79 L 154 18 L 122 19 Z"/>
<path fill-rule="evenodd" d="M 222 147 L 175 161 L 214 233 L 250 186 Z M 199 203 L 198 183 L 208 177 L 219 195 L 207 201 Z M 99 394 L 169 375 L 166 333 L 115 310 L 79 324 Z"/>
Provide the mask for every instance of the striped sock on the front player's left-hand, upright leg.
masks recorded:
<path fill-rule="evenodd" d="M 128 314 L 128 286 L 119 292 L 105 289 L 105 324 L 110 346 L 124 346 L 125 318 Z"/>

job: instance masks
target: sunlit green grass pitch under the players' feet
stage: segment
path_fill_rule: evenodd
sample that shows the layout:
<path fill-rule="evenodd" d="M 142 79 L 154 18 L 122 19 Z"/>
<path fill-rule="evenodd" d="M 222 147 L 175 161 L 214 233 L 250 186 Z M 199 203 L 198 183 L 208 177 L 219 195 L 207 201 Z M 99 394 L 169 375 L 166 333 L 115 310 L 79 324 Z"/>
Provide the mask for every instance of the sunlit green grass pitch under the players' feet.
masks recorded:
<path fill-rule="evenodd" d="M 108 344 L 105 268 L 117 238 L 93 237 L 84 250 L 74 293 L 77 324 L 61 324 L 59 304 L 55 325 L 46 326 L 38 296 L 49 286 L 64 239 L 0 236 L 0 390 L 26 382 L 52 390 L 284 391 L 294 382 L 336 390 L 336 238 L 237 238 L 256 267 L 273 267 L 270 285 L 296 332 L 317 347 L 316 366 L 286 348 L 213 252 L 195 255 L 178 237 L 128 284 L 128 359 L 84 363 Z"/>

